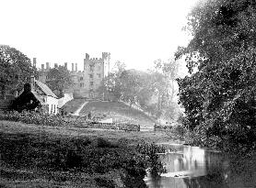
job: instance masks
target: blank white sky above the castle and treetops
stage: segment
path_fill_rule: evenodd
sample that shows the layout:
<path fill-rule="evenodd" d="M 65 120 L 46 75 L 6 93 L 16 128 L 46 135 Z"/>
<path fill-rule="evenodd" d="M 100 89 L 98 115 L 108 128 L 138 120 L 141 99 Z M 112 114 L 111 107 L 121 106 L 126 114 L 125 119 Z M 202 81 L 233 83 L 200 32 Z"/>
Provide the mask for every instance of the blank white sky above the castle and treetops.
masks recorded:
<path fill-rule="evenodd" d="M 0 44 L 20 50 L 38 66 L 100 58 L 146 70 L 169 59 L 188 38 L 181 28 L 196 0 L 0 0 Z"/>

